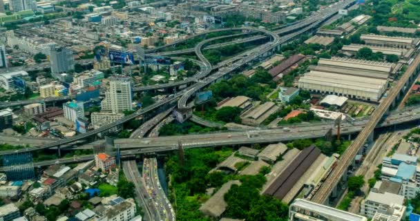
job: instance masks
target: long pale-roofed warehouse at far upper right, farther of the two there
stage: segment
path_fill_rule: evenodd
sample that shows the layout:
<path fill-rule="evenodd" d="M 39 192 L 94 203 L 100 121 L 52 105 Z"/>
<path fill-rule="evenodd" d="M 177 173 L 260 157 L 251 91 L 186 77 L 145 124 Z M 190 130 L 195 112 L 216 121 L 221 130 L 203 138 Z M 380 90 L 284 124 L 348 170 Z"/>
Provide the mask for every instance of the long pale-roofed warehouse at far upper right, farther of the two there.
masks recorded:
<path fill-rule="evenodd" d="M 365 44 L 373 46 L 390 46 L 395 48 L 415 48 L 419 39 L 411 37 L 390 37 L 385 35 L 361 35 Z"/>

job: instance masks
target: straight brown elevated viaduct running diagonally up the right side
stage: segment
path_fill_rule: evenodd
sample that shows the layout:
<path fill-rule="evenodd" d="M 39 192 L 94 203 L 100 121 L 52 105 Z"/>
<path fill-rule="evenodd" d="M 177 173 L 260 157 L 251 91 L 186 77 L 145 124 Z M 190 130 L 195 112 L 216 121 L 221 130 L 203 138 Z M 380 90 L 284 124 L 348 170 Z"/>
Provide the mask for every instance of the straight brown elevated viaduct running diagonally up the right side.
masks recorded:
<path fill-rule="evenodd" d="M 388 96 L 379 104 L 378 108 L 372 113 L 369 121 L 365 124 L 365 127 L 361 130 L 361 133 L 356 137 L 356 140 L 345 150 L 338 160 L 335 169 L 330 173 L 325 182 L 316 191 L 313 202 L 324 204 L 327 202 L 333 189 L 336 188 L 338 182 L 344 173 L 347 173 L 347 169 L 352 164 L 354 157 L 359 152 L 360 148 L 365 144 L 368 137 L 372 136 L 374 128 L 379 124 L 383 116 L 389 111 L 390 107 L 395 104 L 396 100 L 403 91 L 408 90 L 410 81 L 414 80 L 414 77 L 419 73 L 420 70 L 420 55 L 414 59 L 412 64 L 407 68 L 401 79 L 397 84 L 390 90 Z M 414 115 L 415 116 L 415 115 Z M 411 116 L 411 117 L 414 117 Z"/>

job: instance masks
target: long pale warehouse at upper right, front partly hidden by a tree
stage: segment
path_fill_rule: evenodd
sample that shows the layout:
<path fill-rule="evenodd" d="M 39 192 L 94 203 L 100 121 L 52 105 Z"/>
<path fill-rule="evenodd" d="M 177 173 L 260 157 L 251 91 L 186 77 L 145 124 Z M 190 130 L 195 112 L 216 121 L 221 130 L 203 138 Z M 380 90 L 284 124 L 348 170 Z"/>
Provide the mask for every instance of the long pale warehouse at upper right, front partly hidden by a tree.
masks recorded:
<path fill-rule="evenodd" d="M 398 57 L 408 59 L 411 57 L 414 49 L 405 49 L 405 48 L 392 48 L 384 46 L 370 46 L 365 44 L 350 44 L 348 46 L 343 46 L 341 50 L 350 55 L 356 55 L 361 48 L 370 48 L 372 52 L 381 52 L 383 55 L 397 55 Z"/>

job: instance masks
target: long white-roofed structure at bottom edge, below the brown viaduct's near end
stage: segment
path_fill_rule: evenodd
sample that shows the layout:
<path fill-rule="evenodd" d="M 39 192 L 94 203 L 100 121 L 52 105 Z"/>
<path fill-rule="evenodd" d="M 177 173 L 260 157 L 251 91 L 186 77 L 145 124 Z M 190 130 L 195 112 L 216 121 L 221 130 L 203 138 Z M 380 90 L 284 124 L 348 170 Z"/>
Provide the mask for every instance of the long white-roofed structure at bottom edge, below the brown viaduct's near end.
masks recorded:
<path fill-rule="evenodd" d="M 367 218 L 323 204 L 296 199 L 289 206 L 289 220 L 367 221 Z"/>

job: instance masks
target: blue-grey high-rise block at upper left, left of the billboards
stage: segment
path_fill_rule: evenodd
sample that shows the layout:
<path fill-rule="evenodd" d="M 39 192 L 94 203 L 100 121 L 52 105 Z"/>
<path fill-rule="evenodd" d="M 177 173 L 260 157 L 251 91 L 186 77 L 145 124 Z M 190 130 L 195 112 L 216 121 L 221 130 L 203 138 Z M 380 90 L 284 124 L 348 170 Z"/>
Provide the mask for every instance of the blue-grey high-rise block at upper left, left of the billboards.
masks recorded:
<path fill-rule="evenodd" d="M 50 52 L 51 72 L 53 74 L 65 73 L 75 68 L 73 52 L 68 48 L 56 48 Z"/>

